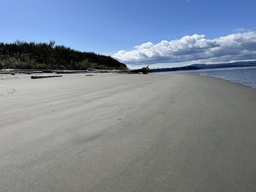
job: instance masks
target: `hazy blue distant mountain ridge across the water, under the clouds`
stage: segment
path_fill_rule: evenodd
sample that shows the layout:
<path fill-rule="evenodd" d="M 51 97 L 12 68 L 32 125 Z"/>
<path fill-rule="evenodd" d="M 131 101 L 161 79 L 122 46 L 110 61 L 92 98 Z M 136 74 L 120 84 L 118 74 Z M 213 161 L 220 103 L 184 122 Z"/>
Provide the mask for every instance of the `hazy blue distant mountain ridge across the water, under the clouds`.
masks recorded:
<path fill-rule="evenodd" d="M 256 61 L 239 61 L 239 62 L 225 63 L 225 64 L 191 64 L 188 66 L 198 67 L 199 69 L 245 67 L 245 66 L 256 66 Z"/>

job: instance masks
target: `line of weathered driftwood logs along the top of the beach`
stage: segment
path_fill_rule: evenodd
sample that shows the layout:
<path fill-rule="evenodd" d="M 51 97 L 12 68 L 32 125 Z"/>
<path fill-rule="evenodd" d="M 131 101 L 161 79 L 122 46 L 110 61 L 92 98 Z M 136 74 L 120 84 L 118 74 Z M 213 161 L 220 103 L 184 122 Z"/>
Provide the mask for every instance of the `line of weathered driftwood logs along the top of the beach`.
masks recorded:
<path fill-rule="evenodd" d="M 1 69 L 0 74 L 17 74 L 17 73 L 57 73 L 57 74 L 65 74 L 65 73 L 149 73 L 148 66 L 142 67 L 141 69 L 128 69 L 128 70 L 100 70 L 100 69 L 92 69 L 88 68 L 87 70 L 17 70 L 17 69 Z M 44 77 L 42 77 L 44 78 Z"/>

